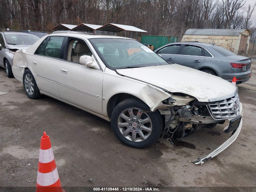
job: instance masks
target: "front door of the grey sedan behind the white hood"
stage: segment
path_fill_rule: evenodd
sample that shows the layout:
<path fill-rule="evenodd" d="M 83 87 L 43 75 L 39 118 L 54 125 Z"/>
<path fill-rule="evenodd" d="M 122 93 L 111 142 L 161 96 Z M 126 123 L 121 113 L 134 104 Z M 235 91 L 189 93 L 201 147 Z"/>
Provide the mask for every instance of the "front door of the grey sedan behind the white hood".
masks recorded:
<path fill-rule="evenodd" d="M 159 49 L 156 53 L 169 63 L 173 63 L 182 44 L 171 44 Z"/>

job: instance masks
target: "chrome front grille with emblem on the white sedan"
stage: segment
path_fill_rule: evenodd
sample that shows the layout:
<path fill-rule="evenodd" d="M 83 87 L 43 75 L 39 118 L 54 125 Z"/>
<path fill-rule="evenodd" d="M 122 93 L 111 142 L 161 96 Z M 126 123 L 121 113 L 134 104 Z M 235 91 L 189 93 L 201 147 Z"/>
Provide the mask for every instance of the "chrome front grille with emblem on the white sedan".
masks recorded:
<path fill-rule="evenodd" d="M 208 110 L 215 119 L 229 119 L 240 113 L 239 96 L 236 94 L 228 99 L 208 103 Z"/>

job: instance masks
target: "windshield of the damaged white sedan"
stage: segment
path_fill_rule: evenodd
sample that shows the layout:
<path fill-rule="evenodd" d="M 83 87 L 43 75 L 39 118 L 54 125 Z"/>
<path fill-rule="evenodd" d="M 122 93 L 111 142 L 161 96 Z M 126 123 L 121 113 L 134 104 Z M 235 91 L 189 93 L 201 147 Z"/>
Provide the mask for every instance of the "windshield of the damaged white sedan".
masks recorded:
<path fill-rule="evenodd" d="M 112 69 L 168 65 L 142 43 L 132 39 L 89 39 L 105 65 Z"/>

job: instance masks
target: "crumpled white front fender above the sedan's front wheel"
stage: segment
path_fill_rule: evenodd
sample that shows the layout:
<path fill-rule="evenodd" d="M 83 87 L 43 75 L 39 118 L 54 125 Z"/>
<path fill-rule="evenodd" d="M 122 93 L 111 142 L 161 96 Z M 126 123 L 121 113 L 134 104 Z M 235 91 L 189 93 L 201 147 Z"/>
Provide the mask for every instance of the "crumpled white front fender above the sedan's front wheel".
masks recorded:
<path fill-rule="evenodd" d="M 138 97 L 145 102 L 152 111 L 166 107 L 167 105 L 164 105 L 161 101 L 171 96 L 157 87 L 136 79 L 118 75 L 115 71 L 108 68 L 105 69 L 102 93 L 103 99 L 105 99 L 102 104 L 103 116 L 105 117 L 108 117 L 107 104 L 109 99 L 118 93 L 128 93 Z"/>

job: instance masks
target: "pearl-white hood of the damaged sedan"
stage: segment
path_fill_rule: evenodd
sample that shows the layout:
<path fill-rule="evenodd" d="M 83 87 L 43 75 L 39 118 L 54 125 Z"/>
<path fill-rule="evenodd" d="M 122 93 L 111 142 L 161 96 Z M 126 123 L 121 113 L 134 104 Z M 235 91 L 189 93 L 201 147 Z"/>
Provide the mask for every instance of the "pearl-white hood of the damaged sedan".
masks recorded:
<path fill-rule="evenodd" d="M 220 77 L 178 64 L 117 69 L 119 74 L 166 89 L 194 96 L 201 102 L 227 96 L 236 86 Z"/>

